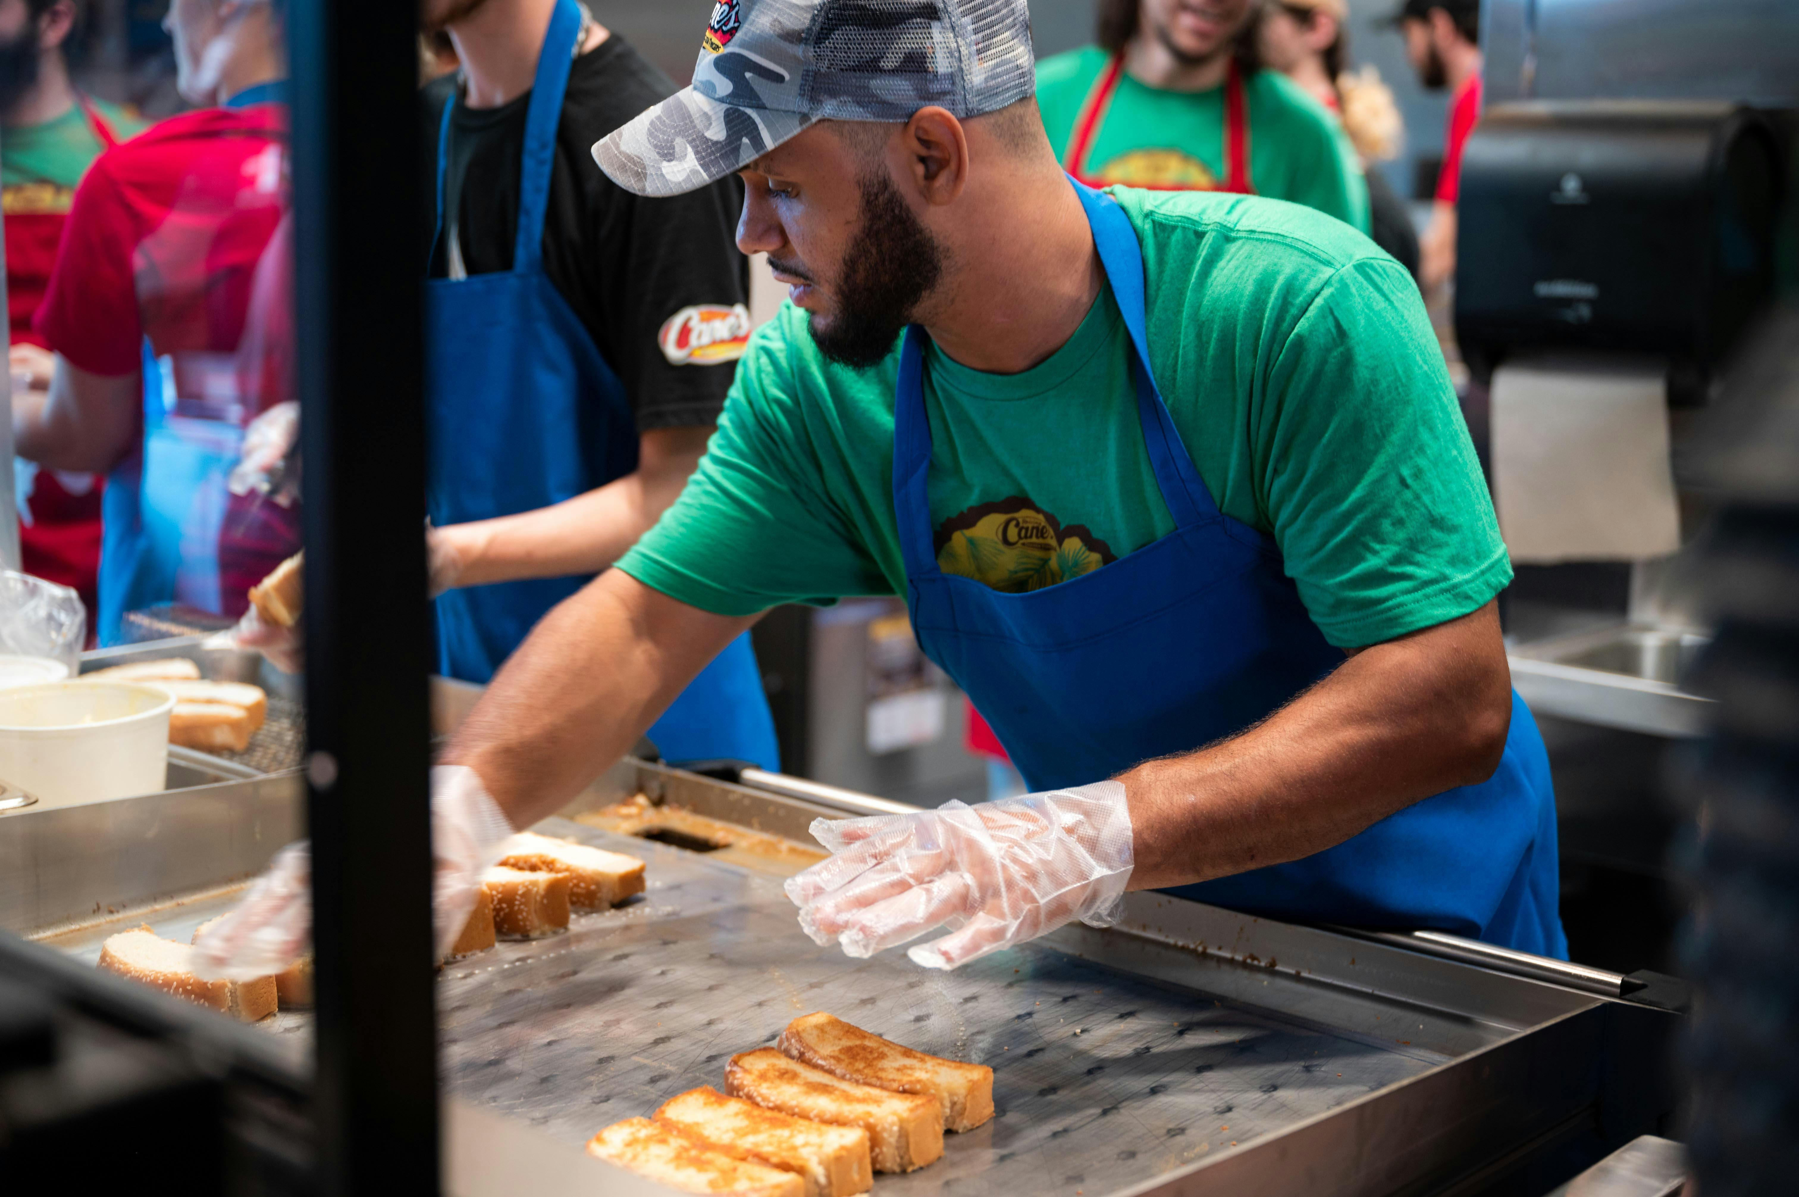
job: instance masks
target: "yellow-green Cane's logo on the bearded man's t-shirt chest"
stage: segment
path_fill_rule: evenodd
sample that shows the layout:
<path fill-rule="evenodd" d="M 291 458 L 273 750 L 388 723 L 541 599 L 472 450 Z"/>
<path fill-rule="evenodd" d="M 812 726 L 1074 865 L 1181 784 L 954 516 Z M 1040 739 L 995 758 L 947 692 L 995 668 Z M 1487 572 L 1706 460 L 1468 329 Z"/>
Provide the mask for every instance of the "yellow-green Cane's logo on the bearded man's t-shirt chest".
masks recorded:
<path fill-rule="evenodd" d="M 1117 558 L 1085 526 L 1063 527 L 1029 499 L 1002 499 L 944 520 L 935 535 L 937 569 L 1006 594 L 1042 590 L 1090 574 Z"/>

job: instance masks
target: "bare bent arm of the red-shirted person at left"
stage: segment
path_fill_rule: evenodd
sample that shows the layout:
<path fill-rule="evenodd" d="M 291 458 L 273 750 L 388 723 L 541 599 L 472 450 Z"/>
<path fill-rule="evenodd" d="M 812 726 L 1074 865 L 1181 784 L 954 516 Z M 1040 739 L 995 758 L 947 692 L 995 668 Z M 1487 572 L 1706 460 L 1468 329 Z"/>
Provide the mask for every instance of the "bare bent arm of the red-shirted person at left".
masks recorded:
<path fill-rule="evenodd" d="M 49 470 L 104 473 L 139 437 L 142 376 L 92 374 L 56 355 L 49 391 L 13 400 L 13 452 Z"/>

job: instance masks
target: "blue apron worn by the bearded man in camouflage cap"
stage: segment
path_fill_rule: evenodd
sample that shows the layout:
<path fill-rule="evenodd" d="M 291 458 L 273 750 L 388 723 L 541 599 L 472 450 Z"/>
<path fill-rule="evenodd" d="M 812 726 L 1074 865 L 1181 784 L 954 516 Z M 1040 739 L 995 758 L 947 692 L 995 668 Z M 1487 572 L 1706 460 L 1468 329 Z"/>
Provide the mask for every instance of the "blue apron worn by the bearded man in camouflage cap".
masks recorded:
<path fill-rule="evenodd" d="M 912 626 L 1033 790 L 1099 781 L 1241 733 L 1344 661 L 1306 614 L 1274 540 L 1213 502 L 1150 371 L 1137 234 L 1110 196 L 1076 191 L 1135 346 L 1137 418 L 1175 531 L 1025 594 L 944 574 L 925 491 L 919 328 L 907 329 L 894 409 Z M 1565 958 L 1554 794 L 1536 724 L 1513 695 L 1511 734 L 1490 781 L 1427 797 L 1304 860 L 1173 893 L 1270 918 L 1428 927 Z"/>

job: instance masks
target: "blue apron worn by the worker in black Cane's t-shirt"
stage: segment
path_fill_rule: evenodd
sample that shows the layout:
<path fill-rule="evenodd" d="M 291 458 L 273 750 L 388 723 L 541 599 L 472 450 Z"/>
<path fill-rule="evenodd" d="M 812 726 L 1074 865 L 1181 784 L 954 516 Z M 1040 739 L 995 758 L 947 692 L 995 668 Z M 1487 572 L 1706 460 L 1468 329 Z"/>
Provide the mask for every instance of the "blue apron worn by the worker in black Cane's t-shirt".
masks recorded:
<path fill-rule="evenodd" d="M 525 113 L 513 268 L 428 279 L 428 508 L 437 526 L 536 511 L 637 468 L 637 427 L 568 301 L 543 272 L 556 126 L 581 16 L 559 0 Z M 437 236 L 444 227 L 450 113 L 437 139 Z M 437 661 L 448 677 L 488 682 L 550 607 L 586 578 L 450 590 L 437 598 Z M 671 761 L 736 758 L 777 769 L 774 718 L 748 634 L 709 664 L 649 729 Z"/>

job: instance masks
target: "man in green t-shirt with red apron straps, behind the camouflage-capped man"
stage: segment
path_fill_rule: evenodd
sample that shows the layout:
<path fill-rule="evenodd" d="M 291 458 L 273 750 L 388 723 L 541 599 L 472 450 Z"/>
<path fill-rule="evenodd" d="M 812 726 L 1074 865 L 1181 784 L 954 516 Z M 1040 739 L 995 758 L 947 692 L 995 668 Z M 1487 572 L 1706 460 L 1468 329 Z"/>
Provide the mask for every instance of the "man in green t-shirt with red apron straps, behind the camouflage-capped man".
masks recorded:
<path fill-rule="evenodd" d="M 1369 230 L 1342 128 L 1256 63 L 1259 0 L 1101 0 L 1099 45 L 1038 63 L 1036 103 L 1063 167 L 1105 187 L 1292 200 Z"/>

